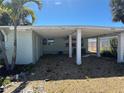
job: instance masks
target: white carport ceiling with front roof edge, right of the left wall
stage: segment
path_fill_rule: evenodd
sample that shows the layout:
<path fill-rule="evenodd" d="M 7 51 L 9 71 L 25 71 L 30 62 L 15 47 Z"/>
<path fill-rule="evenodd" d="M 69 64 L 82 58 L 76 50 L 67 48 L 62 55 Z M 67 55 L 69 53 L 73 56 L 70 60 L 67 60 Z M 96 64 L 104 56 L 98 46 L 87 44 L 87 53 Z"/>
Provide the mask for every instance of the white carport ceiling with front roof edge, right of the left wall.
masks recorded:
<path fill-rule="evenodd" d="M 105 36 L 111 34 L 117 34 L 124 32 L 124 28 L 112 28 L 112 27 L 90 27 L 90 26 L 81 26 L 81 27 L 34 27 L 33 30 L 39 35 L 45 38 L 56 38 L 56 37 L 67 37 L 72 34 L 73 37 L 76 37 L 76 30 L 81 29 L 82 37 L 90 38 L 96 36 Z"/>

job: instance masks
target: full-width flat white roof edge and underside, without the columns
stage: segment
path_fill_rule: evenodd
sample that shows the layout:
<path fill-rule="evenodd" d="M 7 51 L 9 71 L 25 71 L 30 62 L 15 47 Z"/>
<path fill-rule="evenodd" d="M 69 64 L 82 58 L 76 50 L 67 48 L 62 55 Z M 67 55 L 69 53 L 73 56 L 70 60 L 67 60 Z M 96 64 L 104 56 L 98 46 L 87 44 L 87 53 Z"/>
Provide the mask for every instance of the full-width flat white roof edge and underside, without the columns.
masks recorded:
<path fill-rule="evenodd" d="M 0 29 L 9 31 L 13 30 L 13 26 L 0 26 Z M 35 31 L 45 38 L 67 37 L 72 34 L 76 35 L 76 31 L 81 29 L 82 37 L 91 38 L 96 36 L 116 35 L 124 32 L 124 28 L 120 27 L 103 27 L 103 26 L 18 26 L 18 31 Z"/>

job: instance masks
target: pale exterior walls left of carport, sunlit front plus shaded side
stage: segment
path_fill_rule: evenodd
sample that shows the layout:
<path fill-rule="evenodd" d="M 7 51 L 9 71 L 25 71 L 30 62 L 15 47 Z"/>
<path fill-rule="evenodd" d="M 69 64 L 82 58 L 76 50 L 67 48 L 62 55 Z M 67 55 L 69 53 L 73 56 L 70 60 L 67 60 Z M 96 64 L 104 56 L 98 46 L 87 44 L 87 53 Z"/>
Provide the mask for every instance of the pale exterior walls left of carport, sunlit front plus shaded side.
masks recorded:
<path fill-rule="evenodd" d="M 13 31 L 8 32 L 5 41 L 9 63 L 12 61 L 13 53 Z M 19 31 L 17 33 L 17 63 L 30 64 L 38 61 L 43 55 L 42 39 L 33 31 Z"/>

